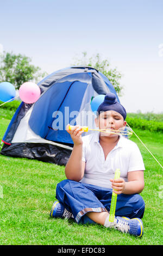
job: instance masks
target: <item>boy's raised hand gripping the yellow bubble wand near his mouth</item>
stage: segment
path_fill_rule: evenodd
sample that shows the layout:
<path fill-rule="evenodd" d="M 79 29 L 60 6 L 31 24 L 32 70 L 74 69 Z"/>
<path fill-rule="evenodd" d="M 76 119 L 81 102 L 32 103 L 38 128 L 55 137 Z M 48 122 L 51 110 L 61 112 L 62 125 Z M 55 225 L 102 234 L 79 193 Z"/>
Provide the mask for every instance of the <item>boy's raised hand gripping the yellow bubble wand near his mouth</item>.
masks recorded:
<path fill-rule="evenodd" d="M 71 135 L 74 145 L 82 145 L 82 133 L 84 132 L 82 126 L 75 125 L 72 126 L 71 131 L 69 130 L 70 124 L 66 126 L 66 131 Z"/>

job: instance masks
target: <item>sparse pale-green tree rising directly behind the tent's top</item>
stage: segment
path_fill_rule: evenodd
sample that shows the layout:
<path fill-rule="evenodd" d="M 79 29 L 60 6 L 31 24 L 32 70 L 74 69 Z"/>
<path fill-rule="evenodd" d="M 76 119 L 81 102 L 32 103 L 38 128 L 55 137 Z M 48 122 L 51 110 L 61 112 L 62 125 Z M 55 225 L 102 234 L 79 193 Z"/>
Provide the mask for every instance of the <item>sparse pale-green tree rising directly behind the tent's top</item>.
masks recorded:
<path fill-rule="evenodd" d="M 121 96 L 123 87 L 120 85 L 120 80 L 122 74 L 117 70 L 117 68 L 111 69 L 108 60 L 101 60 L 99 53 L 89 59 L 87 59 L 87 52 L 82 52 L 82 55 L 83 56 L 80 59 L 74 58 L 75 63 L 73 65 L 92 66 L 92 68 L 102 72 L 106 77 L 108 77 L 117 94 Z"/>

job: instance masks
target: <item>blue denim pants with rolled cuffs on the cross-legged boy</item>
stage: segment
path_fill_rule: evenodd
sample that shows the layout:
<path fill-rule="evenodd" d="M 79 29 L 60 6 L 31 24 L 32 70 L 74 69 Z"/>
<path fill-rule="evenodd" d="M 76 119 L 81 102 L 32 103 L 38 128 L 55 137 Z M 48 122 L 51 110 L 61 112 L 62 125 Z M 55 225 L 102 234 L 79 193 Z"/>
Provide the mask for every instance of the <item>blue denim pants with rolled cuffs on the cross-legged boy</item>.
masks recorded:
<path fill-rule="evenodd" d="M 77 223 L 93 223 L 87 212 L 109 212 L 112 189 L 73 180 L 62 180 L 57 184 L 56 198 L 72 212 Z M 145 202 L 140 194 L 118 194 L 115 216 L 142 218 Z"/>

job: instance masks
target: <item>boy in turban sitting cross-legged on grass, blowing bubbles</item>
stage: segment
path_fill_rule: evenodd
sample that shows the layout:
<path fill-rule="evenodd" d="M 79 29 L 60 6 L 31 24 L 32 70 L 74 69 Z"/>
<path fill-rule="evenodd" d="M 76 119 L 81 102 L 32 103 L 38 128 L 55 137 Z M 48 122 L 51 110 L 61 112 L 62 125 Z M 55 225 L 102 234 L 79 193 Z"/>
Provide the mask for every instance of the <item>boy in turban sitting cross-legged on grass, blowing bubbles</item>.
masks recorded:
<path fill-rule="evenodd" d="M 118 130 L 126 126 L 126 110 L 112 93 L 97 109 L 99 129 Z M 77 223 L 98 223 L 106 228 L 141 237 L 145 202 L 139 193 L 144 179 L 142 156 L 137 145 L 121 135 L 95 132 L 82 137 L 81 126 L 69 131 L 74 143 L 65 167 L 67 180 L 57 185 L 52 217 L 73 217 Z M 114 180 L 115 170 L 121 171 Z M 112 191 L 117 193 L 114 222 L 109 222 Z"/>

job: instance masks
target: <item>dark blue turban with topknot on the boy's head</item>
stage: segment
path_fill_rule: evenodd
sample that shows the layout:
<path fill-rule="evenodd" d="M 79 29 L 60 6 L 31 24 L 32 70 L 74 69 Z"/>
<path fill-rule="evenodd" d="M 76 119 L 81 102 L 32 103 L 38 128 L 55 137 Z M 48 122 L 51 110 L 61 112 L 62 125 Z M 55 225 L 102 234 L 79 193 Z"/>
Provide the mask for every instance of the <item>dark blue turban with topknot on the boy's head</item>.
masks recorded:
<path fill-rule="evenodd" d="M 104 101 L 101 103 L 101 105 L 99 105 L 97 112 L 99 115 L 100 112 L 108 110 L 114 110 L 120 113 L 124 120 L 126 119 L 126 109 L 117 101 L 114 93 L 107 93 L 105 95 Z"/>

